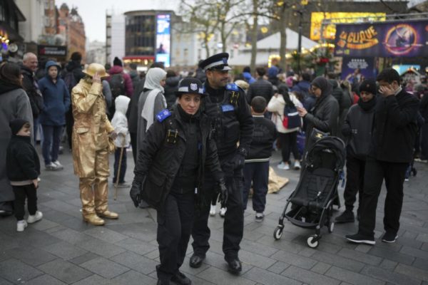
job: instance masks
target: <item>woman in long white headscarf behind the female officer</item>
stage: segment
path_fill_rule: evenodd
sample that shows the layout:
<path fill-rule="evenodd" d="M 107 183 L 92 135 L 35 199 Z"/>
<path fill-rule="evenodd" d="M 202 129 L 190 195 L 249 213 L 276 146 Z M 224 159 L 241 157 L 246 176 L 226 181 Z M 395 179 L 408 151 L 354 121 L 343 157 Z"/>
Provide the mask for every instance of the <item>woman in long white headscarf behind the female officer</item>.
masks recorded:
<path fill-rule="evenodd" d="M 156 119 L 156 115 L 166 108 L 166 100 L 163 95 L 165 80 L 166 71 L 162 68 L 156 67 L 148 70 L 143 93 L 138 99 L 137 153 L 148 128 Z"/>

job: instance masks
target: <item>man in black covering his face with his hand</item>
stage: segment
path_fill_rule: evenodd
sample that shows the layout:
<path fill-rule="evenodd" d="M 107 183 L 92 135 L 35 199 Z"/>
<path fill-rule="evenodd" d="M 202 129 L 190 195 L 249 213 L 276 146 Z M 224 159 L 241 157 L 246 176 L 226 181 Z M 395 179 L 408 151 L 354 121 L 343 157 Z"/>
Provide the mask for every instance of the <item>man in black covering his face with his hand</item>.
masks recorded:
<path fill-rule="evenodd" d="M 357 234 L 347 235 L 350 242 L 375 244 L 377 199 L 385 180 L 387 197 L 384 205 L 382 242 L 395 242 L 403 203 L 403 183 L 413 158 L 417 133 L 419 100 L 399 85 L 399 74 L 392 68 L 379 76 L 379 96 L 374 115 L 374 130 L 365 169 L 365 185 L 360 205 Z"/>

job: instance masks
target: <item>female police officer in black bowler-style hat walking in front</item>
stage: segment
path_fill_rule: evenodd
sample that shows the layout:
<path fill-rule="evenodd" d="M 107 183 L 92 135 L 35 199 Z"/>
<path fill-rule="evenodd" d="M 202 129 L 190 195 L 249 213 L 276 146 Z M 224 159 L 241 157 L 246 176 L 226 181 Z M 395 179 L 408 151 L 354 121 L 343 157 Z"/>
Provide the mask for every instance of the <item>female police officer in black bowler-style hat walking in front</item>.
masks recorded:
<path fill-rule="evenodd" d="M 202 83 L 195 78 L 183 79 L 176 95 L 178 104 L 159 113 L 148 129 L 130 192 L 136 206 L 142 197 L 158 210 L 158 284 L 191 284 L 178 269 L 188 247 L 193 213 L 198 209 L 195 205 L 212 195 L 201 192 L 205 167 L 213 173 L 220 192 L 223 190 L 223 202 L 227 199 L 210 123 L 199 110 L 205 95 Z"/>

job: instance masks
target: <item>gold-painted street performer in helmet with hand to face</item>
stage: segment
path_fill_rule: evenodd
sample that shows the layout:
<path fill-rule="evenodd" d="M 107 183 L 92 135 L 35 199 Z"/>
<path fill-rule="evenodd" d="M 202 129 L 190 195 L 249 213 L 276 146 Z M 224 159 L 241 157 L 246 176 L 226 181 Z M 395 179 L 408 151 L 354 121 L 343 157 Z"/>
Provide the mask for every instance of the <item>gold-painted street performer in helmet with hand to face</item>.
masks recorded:
<path fill-rule="evenodd" d="M 103 225 L 104 220 L 117 219 L 118 214 L 108 211 L 108 139 L 116 133 L 106 115 L 101 78 L 107 77 L 106 69 L 91 63 L 83 73 L 84 78 L 73 88 L 73 164 L 79 177 L 83 220 Z"/>

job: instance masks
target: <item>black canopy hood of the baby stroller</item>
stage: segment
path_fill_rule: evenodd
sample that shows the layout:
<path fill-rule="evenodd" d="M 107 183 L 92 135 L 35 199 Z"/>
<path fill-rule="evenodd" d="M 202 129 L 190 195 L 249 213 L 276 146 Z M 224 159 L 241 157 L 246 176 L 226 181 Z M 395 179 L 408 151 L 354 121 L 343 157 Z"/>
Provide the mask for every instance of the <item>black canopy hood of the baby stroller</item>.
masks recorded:
<path fill-rule="evenodd" d="M 335 156 L 335 169 L 341 170 L 345 165 L 346 150 L 345 142 L 337 137 L 325 137 L 317 140 L 310 150 L 306 153 L 306 164 L 314 167 L 315 164 L 320 163 L 320 154 L 322 152 L 330 152 Z M 321 158 L 322 159 L 322 158 Z"/>

